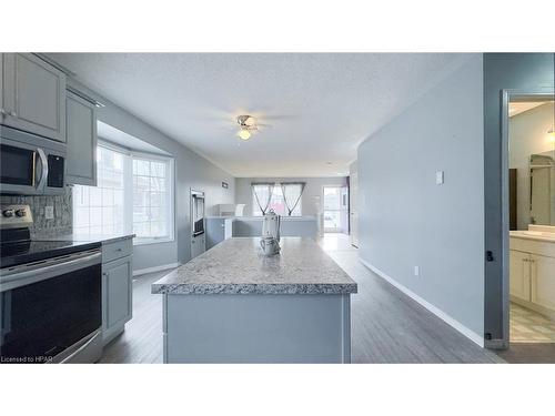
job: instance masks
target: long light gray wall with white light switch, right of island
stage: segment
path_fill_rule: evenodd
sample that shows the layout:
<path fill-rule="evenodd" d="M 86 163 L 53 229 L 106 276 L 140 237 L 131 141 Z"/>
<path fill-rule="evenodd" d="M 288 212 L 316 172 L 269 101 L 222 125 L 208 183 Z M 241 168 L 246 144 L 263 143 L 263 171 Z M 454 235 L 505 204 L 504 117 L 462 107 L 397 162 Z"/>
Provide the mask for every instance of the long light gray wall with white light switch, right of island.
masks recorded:
<path fill-rule="evenodd" d="M 360 256 L 478 336 L 484 329 L 482 55 L 359 148 Z M 436 185 L 435 172 L 445 172 Z M 420 266 L 420 276 L 414 266 Z"/>

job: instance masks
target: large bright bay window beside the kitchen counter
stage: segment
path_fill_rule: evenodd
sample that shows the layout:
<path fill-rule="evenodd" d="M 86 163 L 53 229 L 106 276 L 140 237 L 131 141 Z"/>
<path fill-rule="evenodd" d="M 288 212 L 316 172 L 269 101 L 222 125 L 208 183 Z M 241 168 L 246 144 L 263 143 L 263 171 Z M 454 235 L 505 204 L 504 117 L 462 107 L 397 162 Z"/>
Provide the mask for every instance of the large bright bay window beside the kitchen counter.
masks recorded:
<path fill-rule="evenodd" d="M 173 160 L 98 146 L 98 186 L 73 186 L 73 230 L 137 234 L 134 242 L 173 239 Z"/>

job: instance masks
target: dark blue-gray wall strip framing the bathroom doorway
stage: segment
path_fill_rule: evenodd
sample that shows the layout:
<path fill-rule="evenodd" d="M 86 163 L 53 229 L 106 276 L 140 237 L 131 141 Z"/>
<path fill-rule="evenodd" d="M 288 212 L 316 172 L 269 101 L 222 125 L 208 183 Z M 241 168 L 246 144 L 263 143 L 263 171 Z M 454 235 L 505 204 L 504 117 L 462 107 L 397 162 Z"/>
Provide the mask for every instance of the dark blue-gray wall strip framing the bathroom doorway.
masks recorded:
<path fill-rule="evenodd" d="M 494 261 L 485 263 L 485 333 L 502 339 L 503 327 L 503 226 L 501 92 L 554 85 L 553 53 L 484 53 L 484 192 L 485 248 Z"/>

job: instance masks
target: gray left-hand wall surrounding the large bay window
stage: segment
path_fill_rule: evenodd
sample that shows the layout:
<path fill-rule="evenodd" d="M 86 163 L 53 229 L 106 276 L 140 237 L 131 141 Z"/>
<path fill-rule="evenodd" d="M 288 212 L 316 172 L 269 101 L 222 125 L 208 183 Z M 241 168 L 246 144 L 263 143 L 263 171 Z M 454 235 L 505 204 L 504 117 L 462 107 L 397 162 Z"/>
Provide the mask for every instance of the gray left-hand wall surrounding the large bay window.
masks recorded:
<path fill-rule="evenodd" d="M 215 205 L 234 203 L 234 177 L 103 97 L 83 85 L 72 83 L 105 104 L 104 108 L 98 110 L 100 121 L 134 135 L 175 158 L 175 240 L 168 243 L 135 245 L 133 270 L 188 262 L 191 258 L 190 189 L 205 192 L 206 214 L 215 215 Z M 229 183 L 229 189 L 221 186 L 222 181 Z"/>

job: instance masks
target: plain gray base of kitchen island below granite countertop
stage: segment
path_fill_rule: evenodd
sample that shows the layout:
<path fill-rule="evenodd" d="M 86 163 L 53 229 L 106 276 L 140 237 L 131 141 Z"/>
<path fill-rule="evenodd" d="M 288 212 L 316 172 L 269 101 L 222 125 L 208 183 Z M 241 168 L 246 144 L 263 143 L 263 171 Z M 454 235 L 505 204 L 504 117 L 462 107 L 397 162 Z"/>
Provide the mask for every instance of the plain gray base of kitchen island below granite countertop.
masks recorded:
<path fill-rule="evenodd" d="M 164 294 L 164 363 L 350 363 L 349 294 Z"/>

